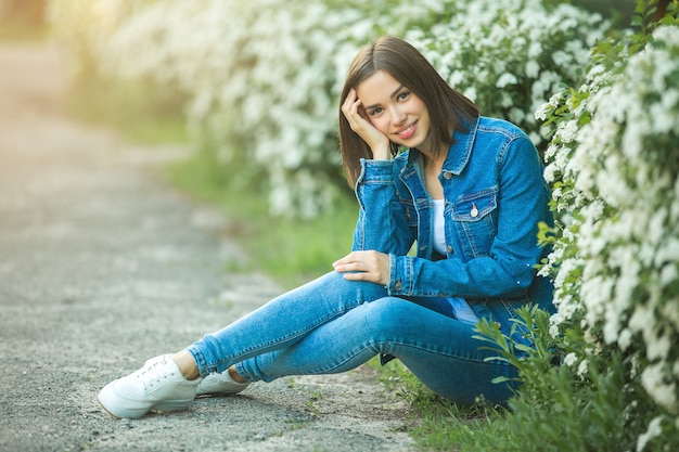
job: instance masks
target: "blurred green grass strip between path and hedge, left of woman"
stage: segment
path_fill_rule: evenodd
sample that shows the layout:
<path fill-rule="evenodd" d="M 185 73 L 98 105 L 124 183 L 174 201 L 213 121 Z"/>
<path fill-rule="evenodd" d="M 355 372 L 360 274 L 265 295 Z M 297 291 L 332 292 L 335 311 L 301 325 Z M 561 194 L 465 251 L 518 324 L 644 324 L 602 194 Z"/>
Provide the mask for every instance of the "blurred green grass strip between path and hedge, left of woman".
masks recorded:
<path fill-rule="evenodd" d="M 172 184 L 225 212 L 229 218 L 225 232 L 248 254 L 251 268 L 272 275 L 284 287 L 332 270 L 331 263 L 349 253 L 358 211 L 353 198 L 340 199 L 312 220 L 271 217 L 266 194 L 258 188 L 239 186 L 230 178 L 238 172 L 220 166 L 210 152 L 198 152 L 166 170 Z"/>

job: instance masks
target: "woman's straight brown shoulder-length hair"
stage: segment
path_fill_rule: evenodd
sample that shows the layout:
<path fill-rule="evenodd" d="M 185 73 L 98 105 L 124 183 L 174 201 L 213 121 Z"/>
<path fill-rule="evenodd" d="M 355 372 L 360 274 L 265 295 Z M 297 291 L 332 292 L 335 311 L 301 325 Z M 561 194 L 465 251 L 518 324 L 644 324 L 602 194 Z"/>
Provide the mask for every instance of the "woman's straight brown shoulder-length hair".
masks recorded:
<path fill-rule="evenodd" d="M 460 122 L 461 117 L 466 121 L 473 121 L 478 117 L 476 105 L 450 88 L 414 47 L 392 36 L 377 38 L 359 51 L 349 67 L 340 105 L 351 88 L 357 88 L 379 70 L 388 73 L 424 102 L 432 122 L 430 133 L 432 137 L 438 137 L 444 143 L 452 144 L 452 130 L 464 130 Z M 361 171 L 360 159 L 372 158 L 372 152 L 351 130 L 342 109 L 340 109 L 340 150 L 345 177 L 349 185 L 354 186 Z M 392 154 L 396 155 L 397 152 L 398 145 L 392 143 Z M 439 152 L 436 146 L 434 152 Z"/>

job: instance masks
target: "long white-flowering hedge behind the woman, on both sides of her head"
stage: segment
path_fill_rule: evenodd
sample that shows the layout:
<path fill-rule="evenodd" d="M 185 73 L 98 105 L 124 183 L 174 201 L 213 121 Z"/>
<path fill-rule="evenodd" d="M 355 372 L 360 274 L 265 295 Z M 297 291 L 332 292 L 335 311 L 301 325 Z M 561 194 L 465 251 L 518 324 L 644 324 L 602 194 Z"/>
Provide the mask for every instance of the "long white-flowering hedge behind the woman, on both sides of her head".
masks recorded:
<path fill-rule="evenodd" d="M 539 141 L 527 112 L 601 34 L 599 17 L 543 1 L 53 0 L 52 22 L 78 64 L 178 86 L 196 143 L 267 181 L 274 214 L 311 217 L 345 186 L 337 96 L 374 36 L 410 36 L 485 114 Z"/>

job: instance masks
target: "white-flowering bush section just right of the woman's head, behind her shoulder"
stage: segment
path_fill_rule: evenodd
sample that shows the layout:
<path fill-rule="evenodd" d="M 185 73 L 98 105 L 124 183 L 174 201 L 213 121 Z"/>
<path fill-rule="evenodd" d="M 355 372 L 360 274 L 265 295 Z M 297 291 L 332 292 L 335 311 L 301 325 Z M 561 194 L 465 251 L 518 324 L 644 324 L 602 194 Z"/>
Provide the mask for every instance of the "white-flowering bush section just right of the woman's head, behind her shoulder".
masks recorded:
<path fill-rule="evenodd" d="M 574 82 L 607 27 L 598 14 L 566 3 L 477 0 L 409 38 L 482 114 L 513 121 L 539 146 L 545 137 L 534 112 L 561 83 Z"/>

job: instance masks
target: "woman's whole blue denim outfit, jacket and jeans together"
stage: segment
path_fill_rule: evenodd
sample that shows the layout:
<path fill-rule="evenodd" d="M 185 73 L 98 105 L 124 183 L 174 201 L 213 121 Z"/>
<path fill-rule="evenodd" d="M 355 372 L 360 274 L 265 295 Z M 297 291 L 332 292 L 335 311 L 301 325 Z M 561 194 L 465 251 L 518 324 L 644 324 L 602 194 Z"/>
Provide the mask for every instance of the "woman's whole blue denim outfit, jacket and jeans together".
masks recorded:
<path fill-rule="evenodd" d="M 362 160 L 354 249 L 389 255 L 386 287 L 331 272 L 207 334 L 188 350 L 206 376 L 232 364 L 249 382 L 354 369 L 374 356 L 400 359 L 427 387 L 458 403 L 483 395 L 505 401 L 514 377 L 486 361 L 474 325 L 454 319 L 451 297 L 509 334 L 515 308 L 551 309 L 551 284 L 535 276 L 538 221 L 551 223 L 542 164 L 528 138 L 509 122 L 481 118 L 456 132 L 440 181 L 447 256 L 434 258 L 430 197 L 417 151 L 393 162 Z M 407 256 L 412 244 L 417 256 Z M 515 340 L 525 343 L 518 332 Z"/>

